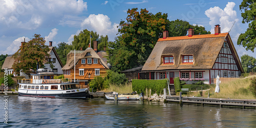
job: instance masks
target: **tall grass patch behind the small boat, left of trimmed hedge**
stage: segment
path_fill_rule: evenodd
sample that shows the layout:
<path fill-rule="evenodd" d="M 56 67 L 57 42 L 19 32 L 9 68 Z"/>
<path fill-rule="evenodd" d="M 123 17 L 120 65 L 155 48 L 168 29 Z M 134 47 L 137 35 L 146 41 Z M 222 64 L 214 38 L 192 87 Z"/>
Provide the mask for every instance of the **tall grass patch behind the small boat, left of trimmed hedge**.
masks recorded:
<path fill-rule="evenodd" d="M 133 92 L 132 82 L 125 83 L 124 85 L 121 85 L 121 86 L 110 84 L 110 87 L 108 89 L 103 90 L 103 92 L 118 92 L 119 94 L 132 93 Z"/>

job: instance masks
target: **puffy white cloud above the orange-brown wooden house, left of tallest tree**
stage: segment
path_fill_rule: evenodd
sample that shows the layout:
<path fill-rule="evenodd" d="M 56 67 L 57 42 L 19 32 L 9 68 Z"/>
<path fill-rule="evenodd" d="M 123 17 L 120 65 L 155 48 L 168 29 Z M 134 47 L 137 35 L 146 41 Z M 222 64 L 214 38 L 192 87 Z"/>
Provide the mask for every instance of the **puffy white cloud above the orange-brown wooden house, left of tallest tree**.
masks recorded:
<path fill-rule="evenodd" d="M 99 35 L 108 35 L 110 40 L 114 40 L 118 32 L 118 24 L 110 21 L 109 16 L 103 14 L 91 14 L 81 23 L 81 29 L 88 29 L 97 32 Z"/>

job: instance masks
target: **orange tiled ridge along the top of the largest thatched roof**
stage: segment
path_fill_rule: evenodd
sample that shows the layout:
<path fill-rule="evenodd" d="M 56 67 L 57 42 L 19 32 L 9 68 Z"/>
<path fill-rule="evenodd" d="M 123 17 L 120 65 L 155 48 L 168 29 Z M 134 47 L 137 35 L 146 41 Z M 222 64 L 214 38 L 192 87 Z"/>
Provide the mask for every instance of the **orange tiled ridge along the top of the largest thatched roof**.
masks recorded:
<path fill-rule="evenodd" d="M 159 38 L 157 41 L 168 41 L 168 40 L 181 40 L 181 39 L 197 39 L 197 38 L 214 38 L 214 37 L 224 37 L 228 33 L 220 33 L 219 35 L 215 34 L 204 34 L 204 35 L 193 35 L 191 37 L 186 36 L 175 36 L 175 37 L 166 37 L 165 39 Z"/>

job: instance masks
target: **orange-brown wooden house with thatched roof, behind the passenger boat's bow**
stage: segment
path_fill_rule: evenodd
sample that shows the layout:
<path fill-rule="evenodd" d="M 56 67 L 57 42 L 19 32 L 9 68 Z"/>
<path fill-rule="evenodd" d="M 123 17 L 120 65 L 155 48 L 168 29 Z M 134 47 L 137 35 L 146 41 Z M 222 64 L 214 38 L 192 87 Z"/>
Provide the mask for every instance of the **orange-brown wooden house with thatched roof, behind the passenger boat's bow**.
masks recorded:
<path fill-rule="evenodd" d="M 65 78 L 71 78 L 73 81 L 74 79 L 76 81 L 78 80 L 80 85 L 88 85 L 88 81 L 94 79 L 95 76 L 104 77 L 106 75 L 106 70 L 109 67 L 96 53 L 97 45 L 94 44 L 94 46 L 96 47 L 95 49 L 88 47 L 85 51 L 80 49 L 69 52 L 67 55 L 67 64 L 62 68 Z M 102 52 L 100 53 L 104 54 Z"/>

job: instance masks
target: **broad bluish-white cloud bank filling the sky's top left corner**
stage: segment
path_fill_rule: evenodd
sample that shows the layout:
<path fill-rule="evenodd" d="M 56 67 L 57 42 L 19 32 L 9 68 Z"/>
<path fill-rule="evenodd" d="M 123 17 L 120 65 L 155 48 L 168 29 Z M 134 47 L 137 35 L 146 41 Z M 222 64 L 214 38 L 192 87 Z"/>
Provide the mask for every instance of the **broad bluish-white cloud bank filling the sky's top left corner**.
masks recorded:
<path fill-rule="evenodd" d="M 84 10 L 87 11 L 87 2 L 82 0 L 0 1 L 0 28 L 11 32 L 55 26 L 63 17 L 77 16 Z"/>

